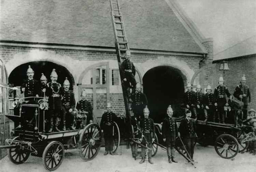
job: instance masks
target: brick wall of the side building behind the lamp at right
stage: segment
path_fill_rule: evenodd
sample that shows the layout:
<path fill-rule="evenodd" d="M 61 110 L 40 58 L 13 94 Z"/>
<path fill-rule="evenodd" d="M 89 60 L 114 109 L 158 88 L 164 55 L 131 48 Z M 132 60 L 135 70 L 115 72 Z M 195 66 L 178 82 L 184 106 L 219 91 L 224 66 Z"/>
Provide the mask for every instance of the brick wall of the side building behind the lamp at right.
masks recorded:
<path fill-rule="evenodd" d="M 225 59 L 228 61 L 228 67 L 230 70 L 225 71 L 224 80 L 225 85 L 227 85 L 227 88 L 230 92 L 230 94 L 234 93 L 234 89 L 237 85 L 239 85 L 239 82 L 241 81 L 241 78 L 243 74 L 245 74 L 246 77 L 246 85 L 249 86 L 251 97 L 252 97 L 252 104 L 248 105 L 248 109 L 256 109 L 256 55 L 250 55 L 245 56 L 243 58 L 236 58 L 236 59 Z M 216 70 L 217 70 L 217 77 L 216 80 L 218 80 L 219 76 L 222 74 L 223 71 L 219 71 L 219 65 L 220 62 L 217 62 Z"/>

